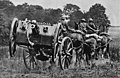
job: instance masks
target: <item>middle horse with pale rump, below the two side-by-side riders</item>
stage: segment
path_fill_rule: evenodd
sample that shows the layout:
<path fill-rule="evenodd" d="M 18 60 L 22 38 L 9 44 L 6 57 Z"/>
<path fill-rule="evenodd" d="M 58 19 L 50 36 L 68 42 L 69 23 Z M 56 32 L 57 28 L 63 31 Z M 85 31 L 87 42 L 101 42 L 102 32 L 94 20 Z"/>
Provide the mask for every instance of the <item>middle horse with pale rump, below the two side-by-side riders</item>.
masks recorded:
<path fill-rule="evenodd" d="M 87 65 L 90 65 L 90 62 L 96 58 L 97 54 L 97 40 L 94 37 L 89 37 L 85 40 L 84 43 L 84 54 L 86 56 Z"/>

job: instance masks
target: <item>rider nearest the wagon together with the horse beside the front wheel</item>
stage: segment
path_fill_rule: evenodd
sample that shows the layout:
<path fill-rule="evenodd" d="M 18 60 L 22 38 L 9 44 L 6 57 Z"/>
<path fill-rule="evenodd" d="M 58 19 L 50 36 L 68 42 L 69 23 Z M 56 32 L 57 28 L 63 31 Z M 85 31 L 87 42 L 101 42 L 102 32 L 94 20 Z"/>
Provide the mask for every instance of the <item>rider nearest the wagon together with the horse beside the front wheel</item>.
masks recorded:
<path fill-rule="evenodd" d="M 68 36 L 73 40 L 73 47 L 75 48 L 73 55 L 74 54 L 76 55 L 76 59 L 74 59 L 73 64 L 75 64 L 77 63 L 77 61 L 79 62 L 81 59 L 80 56 L 81 56 L 81 52 L 83 49 L 83 42 L 84 42 L 83 36 L 85 35 L 85 33 L 81 30 L 75 30 L 70 28 L 68 25 L 69 21 L 70 21 L 69 16 L 63 15 L 61 17 L 60 25 L 62 28 L 63 37 Z"/>

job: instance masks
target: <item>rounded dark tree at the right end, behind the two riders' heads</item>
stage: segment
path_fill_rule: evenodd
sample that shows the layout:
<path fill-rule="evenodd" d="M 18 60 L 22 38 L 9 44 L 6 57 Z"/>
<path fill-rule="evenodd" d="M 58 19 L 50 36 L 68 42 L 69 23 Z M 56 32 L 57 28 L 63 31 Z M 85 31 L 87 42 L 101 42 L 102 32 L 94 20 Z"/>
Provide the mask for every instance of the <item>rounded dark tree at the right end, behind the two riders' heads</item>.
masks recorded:
<path fill-rule="evenodd" d="M 86 19 L 93 18 L 94 23 L 97 25 L 98 29 L 105 31 L 107 24 L 110 24 L 107 15 L 105 14 L 106 8 L 101 4 L 95 4 L 90 7 L 89 11 L 84 14 Z"/>

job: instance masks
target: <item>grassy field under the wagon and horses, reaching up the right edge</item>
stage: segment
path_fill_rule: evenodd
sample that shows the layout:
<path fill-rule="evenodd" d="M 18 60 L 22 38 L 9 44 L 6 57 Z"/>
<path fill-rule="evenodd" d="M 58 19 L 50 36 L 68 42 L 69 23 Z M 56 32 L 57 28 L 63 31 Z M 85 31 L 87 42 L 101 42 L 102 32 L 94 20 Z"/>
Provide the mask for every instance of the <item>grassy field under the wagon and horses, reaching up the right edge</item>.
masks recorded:
<path fill-rule="evenodd" d="M 40 70 L 28 71 L 23 62 L 22 51 L 18 48 L 16 57 L 9 58 L 8 47 L 0 47 L 0 78 L 120 78 L 120 27 L 110 28 L 113 41 L 110 43 L 113 64 L 103 64 L 93 69 L 80 67 L 60 70 L 57 66 L 50 66 L 48 62 L 41 62 Z M 99 63 L 102 63 L 99 61 Z"/>

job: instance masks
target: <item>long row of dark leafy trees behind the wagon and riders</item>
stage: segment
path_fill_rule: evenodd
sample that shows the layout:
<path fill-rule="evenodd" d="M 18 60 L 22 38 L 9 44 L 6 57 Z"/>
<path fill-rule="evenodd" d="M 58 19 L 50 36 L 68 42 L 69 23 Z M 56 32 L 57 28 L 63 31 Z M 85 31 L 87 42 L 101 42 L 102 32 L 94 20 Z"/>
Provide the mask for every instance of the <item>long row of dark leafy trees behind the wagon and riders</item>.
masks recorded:
<path fill-rule="evenodd" d="M 20 20 L 28 18 L 29 20 L 36 20 L 37 22 L 47 22 L 56 24 L 63 13 L 70 14 L 70 27 L 74 28 L 74 22 L 79 22 L 82 18 L 86 20 L 93 18 L 94 23 L 101 31 L 106 31 L 110 25 L 110 20 L 105 13 L 106 8 L 101 4 L 94 4 L 89 8 L 89 11 L 82 12 L 78 5 L 66 4 L 61 10 L 60 8 L 44 9 L 40 5 L 29 5 L 23 3 L 15 6 L 9 0 L 0 1 L 0 45 L 8 45 L 9 31 L 11 22 L 14 17 Z"/>

